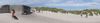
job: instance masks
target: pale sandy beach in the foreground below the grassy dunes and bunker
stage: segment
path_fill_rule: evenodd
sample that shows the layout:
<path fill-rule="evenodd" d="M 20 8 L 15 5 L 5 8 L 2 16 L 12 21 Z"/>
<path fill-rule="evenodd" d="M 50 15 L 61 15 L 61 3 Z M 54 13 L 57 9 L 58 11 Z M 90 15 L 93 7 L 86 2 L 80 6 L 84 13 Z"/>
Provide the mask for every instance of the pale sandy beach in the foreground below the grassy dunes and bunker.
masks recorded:
<path fill-rule="evenodd" d="M 42 11 L 31 15 L 21 15 L 16 13 L 19 20 L 14 20 L 10 13 L 0 14 L 0 23 L 100 23 L 99 16 L 89 16 L 88 18 L 74 14 L 53 13 Z"/>

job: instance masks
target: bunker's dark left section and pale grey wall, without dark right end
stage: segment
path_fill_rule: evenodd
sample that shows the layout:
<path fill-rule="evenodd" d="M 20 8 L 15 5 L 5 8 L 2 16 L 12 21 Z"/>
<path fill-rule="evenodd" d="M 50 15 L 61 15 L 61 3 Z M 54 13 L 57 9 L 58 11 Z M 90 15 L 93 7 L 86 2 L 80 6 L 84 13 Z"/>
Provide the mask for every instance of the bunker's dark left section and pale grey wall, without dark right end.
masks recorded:
<path fill-rule="evenodd" d="M 23 5 L 9 5 L 8 7 L 1 6 L 0 13 L 10 13 L 12 9 L 14 9 L 15 12 L 22 12 Z"/>

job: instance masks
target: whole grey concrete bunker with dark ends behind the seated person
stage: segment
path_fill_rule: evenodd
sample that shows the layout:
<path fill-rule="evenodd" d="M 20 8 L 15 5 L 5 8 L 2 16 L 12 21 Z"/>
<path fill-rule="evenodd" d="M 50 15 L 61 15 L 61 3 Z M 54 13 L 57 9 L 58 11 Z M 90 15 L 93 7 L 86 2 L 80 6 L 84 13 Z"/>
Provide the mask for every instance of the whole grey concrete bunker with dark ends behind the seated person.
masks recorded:
<path fill-rule="evenodd" d="M 0 8 L 0 13 L 10 13 L 11 9 L 14 9 L 16 12 L 24 12 L 30 13 L 31 7 L 27 5 L 2 5 Z"/>

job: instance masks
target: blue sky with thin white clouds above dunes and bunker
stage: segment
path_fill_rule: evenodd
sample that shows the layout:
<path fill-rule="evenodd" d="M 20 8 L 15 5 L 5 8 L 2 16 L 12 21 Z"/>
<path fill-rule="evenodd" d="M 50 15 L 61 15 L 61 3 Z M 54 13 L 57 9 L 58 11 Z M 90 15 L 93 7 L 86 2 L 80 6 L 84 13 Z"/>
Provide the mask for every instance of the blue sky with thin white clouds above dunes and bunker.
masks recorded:
<path fill-rule="evenodd" d="M 5 4 L 47 6 L 65 10 L 100 9 L 100 0 L 0 0 L 0 5 Z"/>

